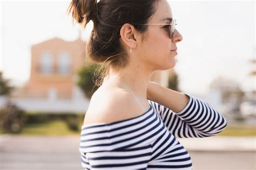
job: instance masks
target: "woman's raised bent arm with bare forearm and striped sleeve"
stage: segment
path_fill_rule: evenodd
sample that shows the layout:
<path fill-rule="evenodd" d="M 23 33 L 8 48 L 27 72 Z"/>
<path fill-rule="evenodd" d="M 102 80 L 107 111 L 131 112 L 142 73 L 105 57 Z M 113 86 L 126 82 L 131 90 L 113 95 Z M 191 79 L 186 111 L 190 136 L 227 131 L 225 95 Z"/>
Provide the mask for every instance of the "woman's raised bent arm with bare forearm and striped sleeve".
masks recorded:
<path fill-rule="evenodd" d="M 148 87 L 147 97 L 151 105 L 175 137 L 210 137 L 219 134 L 227 126 L 222 114 L 196 97 L 167 89 L 154 82 L 150 82 Z"/>

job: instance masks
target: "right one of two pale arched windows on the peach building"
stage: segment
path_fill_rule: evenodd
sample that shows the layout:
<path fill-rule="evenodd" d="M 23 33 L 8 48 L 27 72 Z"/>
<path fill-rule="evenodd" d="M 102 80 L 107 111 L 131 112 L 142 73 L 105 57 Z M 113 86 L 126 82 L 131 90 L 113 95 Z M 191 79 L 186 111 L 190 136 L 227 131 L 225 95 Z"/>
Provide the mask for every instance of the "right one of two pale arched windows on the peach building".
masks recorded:
<path fill-rule="evenodd" d="M 70 55 L 68 52 L 62 51 L 58 56 L 58 73 L 69 74 L 70 72 Z"/>

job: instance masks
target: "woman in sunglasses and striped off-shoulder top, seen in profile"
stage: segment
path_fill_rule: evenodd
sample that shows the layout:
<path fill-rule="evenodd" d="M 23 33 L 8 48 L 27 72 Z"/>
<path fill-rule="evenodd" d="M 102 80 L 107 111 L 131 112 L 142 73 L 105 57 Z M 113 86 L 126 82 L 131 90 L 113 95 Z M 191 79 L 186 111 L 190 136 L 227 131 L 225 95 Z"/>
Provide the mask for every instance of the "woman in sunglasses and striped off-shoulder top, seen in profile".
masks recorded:
<path fill-rule="evenodd" d="M 183 37 L 166 0 L 72 1 L 79 24 L 94 23 L 87 58 L 104 64 L 80 137 L 85 169 L 192 169 L 177 138 L 219 134 L 226 120 L 209 104 L 150 80 L 175 66 Z"/>

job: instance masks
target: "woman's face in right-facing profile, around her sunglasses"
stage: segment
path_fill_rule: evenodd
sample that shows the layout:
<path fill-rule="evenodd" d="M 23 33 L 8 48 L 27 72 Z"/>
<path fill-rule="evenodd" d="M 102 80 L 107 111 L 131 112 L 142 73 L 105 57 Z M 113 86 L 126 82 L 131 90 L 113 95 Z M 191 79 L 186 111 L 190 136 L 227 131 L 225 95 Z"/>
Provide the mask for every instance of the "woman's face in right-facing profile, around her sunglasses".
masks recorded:
<path fill-rule="evenodd" d="M 172 18 L 172 11 L 169 3 L 166 0 L 158 2 L 158 8 L 148 24 L 169 24 Z M 146 32 L 144 42 L 138 44 L 139 56 L 143 63 L 147 63 L 152 70 L 167 70 L 175 66 L 174 59 L 177 56 L 177 42 L 180 42 L 183 37 L 178 30 L 174 31 L 172 39 L 170 38 L 169 25 L 147 25 L 149 29 Z"/>

